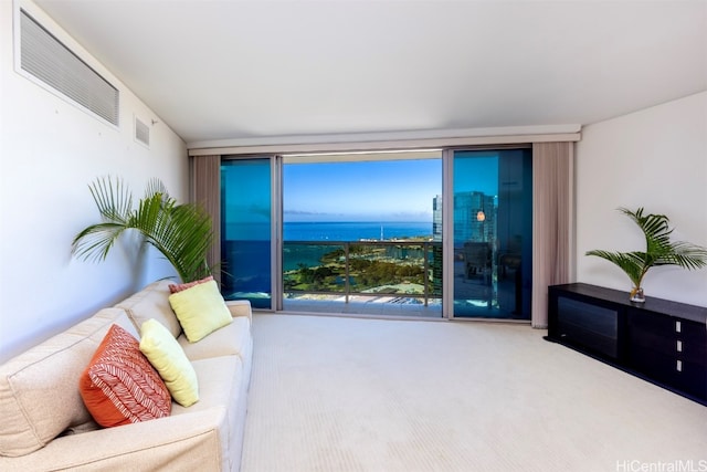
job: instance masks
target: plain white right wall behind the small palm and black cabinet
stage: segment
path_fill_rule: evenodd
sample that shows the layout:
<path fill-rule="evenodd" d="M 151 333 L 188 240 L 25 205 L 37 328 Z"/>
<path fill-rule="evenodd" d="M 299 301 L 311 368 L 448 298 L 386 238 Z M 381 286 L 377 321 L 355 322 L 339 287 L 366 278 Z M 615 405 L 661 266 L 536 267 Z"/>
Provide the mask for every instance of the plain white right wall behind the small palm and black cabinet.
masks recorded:
<path fill-rule="evenodd" d="M 629 291 L 592 249 L 644 250 L 618 207 L 663 213 L 675 240 L 707 247 L 707 92 L 587 126 L 577 144 L 577 280 Z M 707 269 L 653 268 L 646 296 L 707 306 Z"/>

